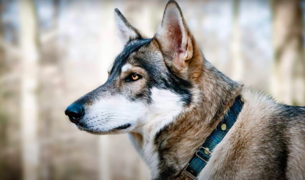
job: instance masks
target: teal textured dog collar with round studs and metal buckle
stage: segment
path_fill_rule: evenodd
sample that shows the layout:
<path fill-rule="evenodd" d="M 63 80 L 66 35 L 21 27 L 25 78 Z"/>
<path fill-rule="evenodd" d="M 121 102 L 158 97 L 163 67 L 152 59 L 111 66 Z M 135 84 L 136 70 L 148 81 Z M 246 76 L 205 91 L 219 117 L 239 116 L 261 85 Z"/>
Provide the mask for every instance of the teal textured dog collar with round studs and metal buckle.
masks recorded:
<path fill-rule="evenodd" d="M 242 111 L 244 100 L 241 96 L 235 98 L 233 105 L 228 112 L 224 115 L 221 122 L 217 125 L 216 129 L 208 136 L 191 161 L 186 164 L 185 168 L 181 171 L 179 178 L 183 175 L 188 176 L 192 180 L 196 180 L 199 173 L 206 166 L 212 155 L 213 149 L 221 142 L 224 136 L 228 133 L 231 127 L 236 122 L 239 112 Z"/>

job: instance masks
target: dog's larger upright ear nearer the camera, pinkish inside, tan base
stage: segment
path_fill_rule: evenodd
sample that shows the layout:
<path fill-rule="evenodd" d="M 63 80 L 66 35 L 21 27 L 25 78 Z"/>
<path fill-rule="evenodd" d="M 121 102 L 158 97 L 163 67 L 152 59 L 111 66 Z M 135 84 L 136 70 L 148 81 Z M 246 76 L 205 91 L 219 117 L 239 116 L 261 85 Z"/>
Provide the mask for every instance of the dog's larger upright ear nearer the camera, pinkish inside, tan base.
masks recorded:
<path fill-rule="evenodd" d="M 202 74 L 203 57 L 177 2 L 170 0 L 167 3 L 156 38 L 167 65 L 186 79 L 198 80 Z"/>

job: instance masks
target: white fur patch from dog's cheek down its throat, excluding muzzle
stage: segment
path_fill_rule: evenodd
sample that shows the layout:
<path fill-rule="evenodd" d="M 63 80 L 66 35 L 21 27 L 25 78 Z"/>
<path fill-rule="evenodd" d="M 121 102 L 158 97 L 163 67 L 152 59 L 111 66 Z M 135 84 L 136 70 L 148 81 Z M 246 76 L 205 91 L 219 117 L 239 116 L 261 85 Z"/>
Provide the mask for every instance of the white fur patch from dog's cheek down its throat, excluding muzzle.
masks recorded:
<path fill-rule="evenodd" d="M 181 96 L 170 90 L 152 88 L 151 92 L 152 105 L 146 113 L 145 125 L 138 130 L 135 129 L 135 131 L 140 132 L 144 137 L 143 146 L 136 147 L 136 150 L 151 170 L 152 179 L 155 179 L 159 175 L 159 155 L 155 151 L 155 135 L 181 113 L 183 102 Z M 130 140 L 133 141 L 131 136 Z M 137 146 L 136 142 L 133 144 Z"/>

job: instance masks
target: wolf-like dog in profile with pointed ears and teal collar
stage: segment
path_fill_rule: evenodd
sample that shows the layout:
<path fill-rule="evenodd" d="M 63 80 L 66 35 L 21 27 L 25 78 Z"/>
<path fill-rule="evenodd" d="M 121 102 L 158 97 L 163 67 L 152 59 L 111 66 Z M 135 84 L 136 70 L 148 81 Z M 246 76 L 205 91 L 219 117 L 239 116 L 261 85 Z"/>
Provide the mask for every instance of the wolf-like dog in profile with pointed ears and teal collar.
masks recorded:
<path fill-rule="evenodd" d="M 213 67 L 173 0 L 152 38 L 118 9 L 114 17 L 124 50 L 105 84 L 65 111 L 80 130 L 127 133 L 153 180 L 305 179 L 304 107 L 277 103 Z M 219 130 L 214 148 L 203 147 Z M 194 159 L 204 166 L 197 174 Z"/>

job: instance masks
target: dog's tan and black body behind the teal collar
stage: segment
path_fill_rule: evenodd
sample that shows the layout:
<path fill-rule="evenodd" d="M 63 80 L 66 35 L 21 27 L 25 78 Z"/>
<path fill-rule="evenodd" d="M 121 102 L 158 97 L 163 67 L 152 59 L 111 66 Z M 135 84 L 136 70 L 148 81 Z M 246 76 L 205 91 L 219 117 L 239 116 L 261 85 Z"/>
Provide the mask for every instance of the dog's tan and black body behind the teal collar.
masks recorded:
<path fill-rule="evenodd" d="M 276 103 L 248 88 L 242 97 L 237 122 L 199 179 L 305 179 L 305 108 Z"/>

